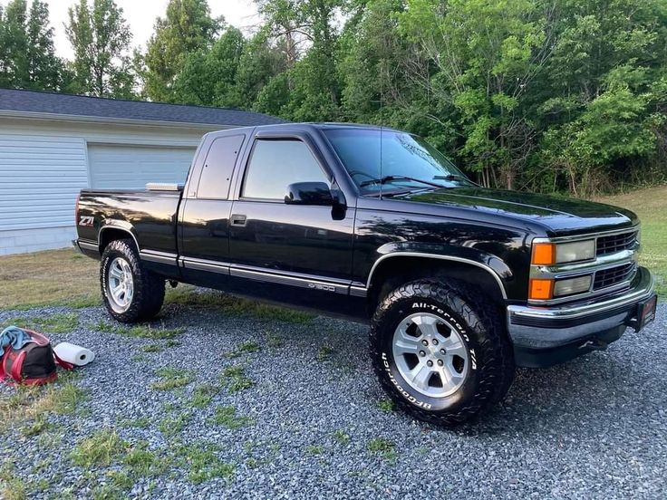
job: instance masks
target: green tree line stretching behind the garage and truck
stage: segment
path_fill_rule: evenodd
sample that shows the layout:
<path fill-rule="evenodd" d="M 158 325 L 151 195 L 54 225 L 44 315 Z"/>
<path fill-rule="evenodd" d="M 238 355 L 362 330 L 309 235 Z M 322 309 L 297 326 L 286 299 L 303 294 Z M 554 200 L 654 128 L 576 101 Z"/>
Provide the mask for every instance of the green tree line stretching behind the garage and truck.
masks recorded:
<path fill-rule="evenodd" d="M 130 56 L 121 9 L 78 0 L 63 67 L 43 0 L 11 0 L 0 85 L 382 123 L 487 187 L 586 197 L 667 180 L 663 0 L 256 5 L 263 22 L 246 37 L 206 0 L 169 0 L 147 51 Z"/>

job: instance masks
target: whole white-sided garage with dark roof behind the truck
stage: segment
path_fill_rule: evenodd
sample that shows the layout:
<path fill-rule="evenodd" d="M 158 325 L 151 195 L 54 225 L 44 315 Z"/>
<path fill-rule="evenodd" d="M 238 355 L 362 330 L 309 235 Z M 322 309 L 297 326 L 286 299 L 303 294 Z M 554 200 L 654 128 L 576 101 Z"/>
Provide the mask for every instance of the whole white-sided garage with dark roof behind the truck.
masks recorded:
<path fill-rule="evenodd" d="M 0 255 L 71 245 L 82 188 L 183 182 L 202 135 L 260 113 L 0 89 Z"/>

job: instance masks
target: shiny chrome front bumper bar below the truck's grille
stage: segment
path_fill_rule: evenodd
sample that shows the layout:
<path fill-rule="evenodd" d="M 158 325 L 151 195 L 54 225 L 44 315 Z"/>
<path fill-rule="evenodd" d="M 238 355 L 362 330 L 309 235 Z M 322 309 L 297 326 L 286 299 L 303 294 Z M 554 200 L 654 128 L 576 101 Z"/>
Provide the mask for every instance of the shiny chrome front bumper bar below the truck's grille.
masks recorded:
<path fill-rule="evenodd" d="M 560 307 L 536 307 L 529 305 L 509 305 L 507 306 L 507 322 L 511 325 L 512 318 L 521 316 L 524 318 L 538 318 L 538 319 L 571 319 L 580 318 L 589 314 L 597 312 L 605 312 L 616 307 L 623 307 L 632 303 L 639 303 L 643 299 L 647 299 L 653 293 L 653 277 L 648 269 L 640 267 L 639 282 L 634 288 L 619 297 L 600 302 L 600 303 L 586 303 L 583 305 L 570 305 Z"/>

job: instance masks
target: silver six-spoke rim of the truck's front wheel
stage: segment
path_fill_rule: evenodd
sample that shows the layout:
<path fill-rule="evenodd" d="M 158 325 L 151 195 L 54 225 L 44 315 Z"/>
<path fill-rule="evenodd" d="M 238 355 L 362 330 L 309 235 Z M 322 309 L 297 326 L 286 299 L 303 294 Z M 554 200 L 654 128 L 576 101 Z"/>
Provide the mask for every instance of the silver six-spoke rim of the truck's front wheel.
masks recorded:
<path fill-rule="evenodd" d="M 430 398 L 453 394 L 468 375 L 468 349 L 459 332 L 435 314 L 418 312 L 402 320 L 392 351 L 401 377 Z"/>

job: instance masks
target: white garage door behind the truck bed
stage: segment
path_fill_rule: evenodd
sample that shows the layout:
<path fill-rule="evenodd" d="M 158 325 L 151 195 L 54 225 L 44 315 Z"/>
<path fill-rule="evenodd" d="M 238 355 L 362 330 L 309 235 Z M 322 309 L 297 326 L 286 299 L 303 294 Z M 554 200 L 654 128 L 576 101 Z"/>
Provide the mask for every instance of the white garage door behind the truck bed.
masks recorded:
<path fill-rule="evenodd" d="M 132 189 L 147 182 L 185 182 L 194 148 L 89 144 L 91 187 Z"/>

